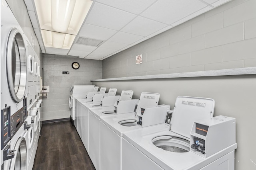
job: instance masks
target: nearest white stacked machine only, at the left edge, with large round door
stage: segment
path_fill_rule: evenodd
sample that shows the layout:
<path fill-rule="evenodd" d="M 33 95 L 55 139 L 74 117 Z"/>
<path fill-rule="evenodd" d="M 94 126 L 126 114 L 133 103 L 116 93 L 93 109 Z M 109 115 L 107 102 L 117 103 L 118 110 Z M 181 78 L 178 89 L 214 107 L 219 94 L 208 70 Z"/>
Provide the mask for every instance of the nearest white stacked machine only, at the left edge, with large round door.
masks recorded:
<path fill-rule="evenodd" d="M 26 167 L 26 142 L 23 123 L 26 119 L 27 62 L 25 35 L 6 1 L 1 3 L 1 152 L 2 169 Z M 13 151 L 18 147 L 18 150 Z M 25 153 L 26 154 L 26 153 Z M 25 160 L 24 160 L 25 158 Z M 10 167 L 11 166 L 11 167 Z"/>

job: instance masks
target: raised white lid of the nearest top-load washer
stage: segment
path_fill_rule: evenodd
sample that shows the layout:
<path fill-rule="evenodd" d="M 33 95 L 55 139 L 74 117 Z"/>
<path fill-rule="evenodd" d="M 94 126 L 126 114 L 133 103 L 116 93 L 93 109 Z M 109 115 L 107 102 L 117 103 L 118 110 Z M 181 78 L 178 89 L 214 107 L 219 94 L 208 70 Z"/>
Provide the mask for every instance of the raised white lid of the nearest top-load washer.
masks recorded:
<path fill-rule="evenodd" d="M 215 101 L 210 98 L 178 96 L 175 102 L 170 130 L 190 138 L 193 123 L 210 120 L 213 116 Z"/>

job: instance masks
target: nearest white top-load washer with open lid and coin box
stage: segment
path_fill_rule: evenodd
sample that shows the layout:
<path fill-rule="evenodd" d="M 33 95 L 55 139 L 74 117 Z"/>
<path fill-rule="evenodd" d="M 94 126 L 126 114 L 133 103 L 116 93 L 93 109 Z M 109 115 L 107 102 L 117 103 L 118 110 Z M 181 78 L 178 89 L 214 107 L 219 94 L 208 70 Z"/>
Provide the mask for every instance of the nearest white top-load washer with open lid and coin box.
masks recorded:
<path fill-rule="evenodd" d="M 122 170 L 234 170 L 235 119 L 213 112 L 212 99 L 179 96 L 169 127 L 123 134 Z"/>

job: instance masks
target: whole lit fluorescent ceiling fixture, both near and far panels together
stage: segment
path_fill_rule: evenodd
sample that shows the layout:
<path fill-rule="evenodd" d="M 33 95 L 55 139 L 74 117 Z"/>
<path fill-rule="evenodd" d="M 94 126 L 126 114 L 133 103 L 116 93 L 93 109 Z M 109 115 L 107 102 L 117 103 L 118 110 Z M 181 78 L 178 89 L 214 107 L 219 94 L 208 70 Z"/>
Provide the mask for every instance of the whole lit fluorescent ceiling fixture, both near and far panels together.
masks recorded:
<path fill-rule="evenodd" d="M 92 0 L 34 0 L 34 2 L 45 47 L 70 49 L 92 6 Z"/>

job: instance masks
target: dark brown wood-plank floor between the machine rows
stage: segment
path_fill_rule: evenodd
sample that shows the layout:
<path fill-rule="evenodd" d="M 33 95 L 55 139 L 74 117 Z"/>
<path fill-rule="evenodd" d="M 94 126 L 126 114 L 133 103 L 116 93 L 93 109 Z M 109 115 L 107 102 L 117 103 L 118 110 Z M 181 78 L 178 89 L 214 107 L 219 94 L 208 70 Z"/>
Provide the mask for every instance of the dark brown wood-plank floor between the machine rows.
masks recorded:
<path fill-rule="evenodd" d="M 70 121 L 43 124 L 33 170 L 95 170 Z"/>

